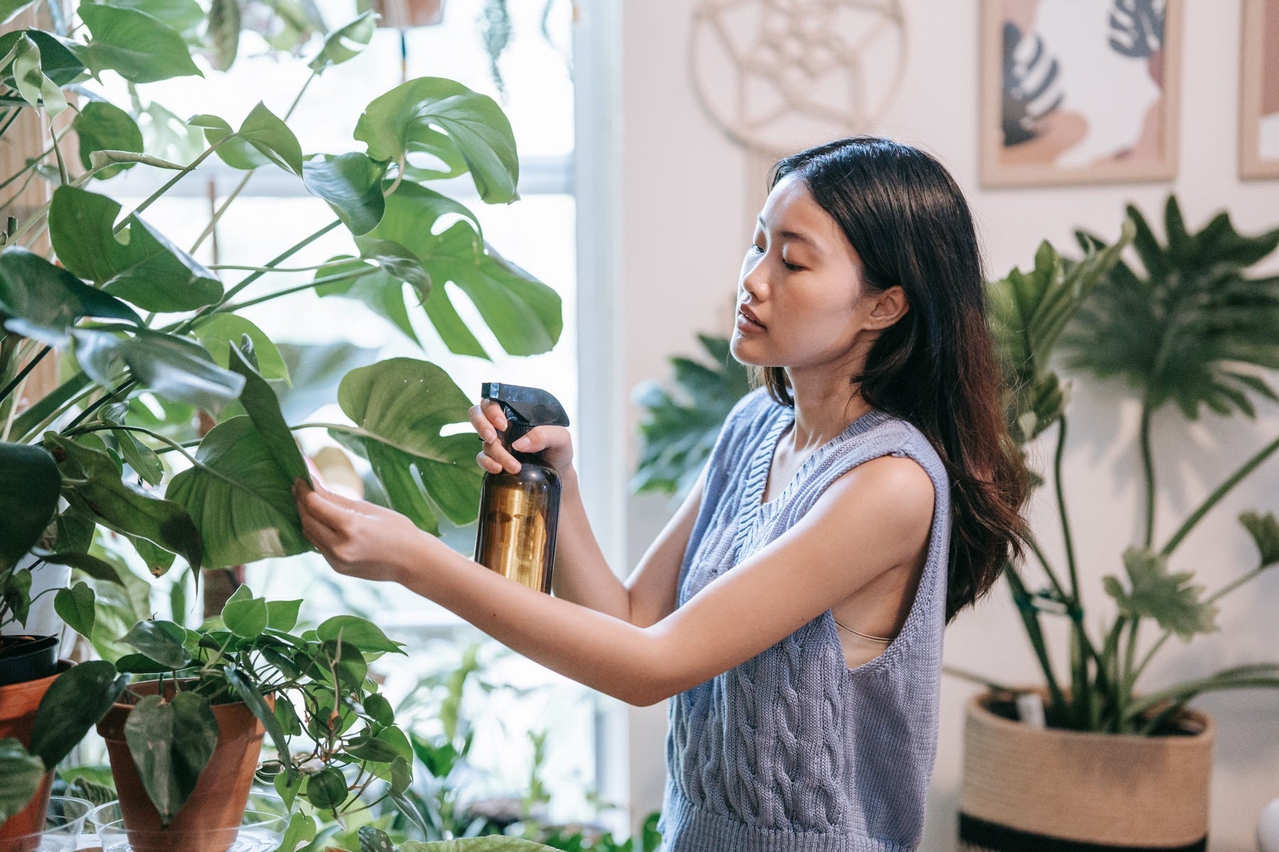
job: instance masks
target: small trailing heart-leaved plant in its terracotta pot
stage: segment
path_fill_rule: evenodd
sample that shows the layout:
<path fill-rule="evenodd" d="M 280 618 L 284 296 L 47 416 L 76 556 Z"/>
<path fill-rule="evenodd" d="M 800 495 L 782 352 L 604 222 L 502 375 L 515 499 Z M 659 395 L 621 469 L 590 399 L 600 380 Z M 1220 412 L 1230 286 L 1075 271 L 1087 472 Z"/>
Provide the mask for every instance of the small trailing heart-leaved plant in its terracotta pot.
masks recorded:
<path fill-rule="evenodd" d="M 124 637 L 136 653 L 116 667 L 147 680 L 97 729 L 134 849 L 230 847 L 263 736 L 276 751 L 263 773 L 286 807 L 336 815 L 370 788 L 402 801 L 412 747 L 368 678 L 368 663 L 400 645 L 356 616 L 295 634 L 301 604 L 240 586 L 201 630 L 145 621 Z"/>

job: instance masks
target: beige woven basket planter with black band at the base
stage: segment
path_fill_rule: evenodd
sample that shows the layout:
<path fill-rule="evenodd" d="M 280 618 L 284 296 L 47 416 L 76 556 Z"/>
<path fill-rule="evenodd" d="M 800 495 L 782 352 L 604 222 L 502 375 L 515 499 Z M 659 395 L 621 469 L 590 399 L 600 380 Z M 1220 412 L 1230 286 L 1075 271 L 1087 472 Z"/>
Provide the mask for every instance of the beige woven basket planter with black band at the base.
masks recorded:
<path fill-rule="evenodd" d="M 1143 737 L 1032 728 L 964 708 L 959 846 L 991 852 L 1207 848 L 1216 728 L 1195 710 Z"/>

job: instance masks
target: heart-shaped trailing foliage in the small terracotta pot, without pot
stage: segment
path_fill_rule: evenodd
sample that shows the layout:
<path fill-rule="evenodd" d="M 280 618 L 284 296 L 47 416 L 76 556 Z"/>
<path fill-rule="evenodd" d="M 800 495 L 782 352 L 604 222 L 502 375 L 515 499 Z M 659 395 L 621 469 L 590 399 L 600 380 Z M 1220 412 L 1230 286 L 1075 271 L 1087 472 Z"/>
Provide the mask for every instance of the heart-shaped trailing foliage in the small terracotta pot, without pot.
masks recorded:
<path fill-rule="evenodd" d="M 304 802 L 310 812 L 340 816 L 373 795 L 404 801 L 413 750 L 368 677 L 371 662 L 403 653 L 400 643 L 356 616 L 294 632 L 301 604 L 255 598 L 240 586 L 221 618 L 200 630 L 143 621 L 124 637 L 136 653 L 116 660 L 119 671 L 178 683 L 171 699 L 159 690 L 137 697 L 125 726 L 138 775 L 164 823 L 212 756 L 219 704 L 246 704 L 266 728 L 276 755 L 261 774 L 285 807 Z M 411 805 L 403 811 L 417 819 Z M 313 820 L 295 816 L 290 830 L 313 837 Z"/>

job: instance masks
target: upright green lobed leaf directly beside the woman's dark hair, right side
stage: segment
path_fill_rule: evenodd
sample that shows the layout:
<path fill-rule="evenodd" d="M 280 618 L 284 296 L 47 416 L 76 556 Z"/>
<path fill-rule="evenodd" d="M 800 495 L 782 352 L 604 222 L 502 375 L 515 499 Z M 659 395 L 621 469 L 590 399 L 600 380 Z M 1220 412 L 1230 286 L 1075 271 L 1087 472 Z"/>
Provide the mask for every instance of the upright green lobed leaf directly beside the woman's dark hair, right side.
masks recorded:
<path fill-rule="evenodd" d="M 1008 420 L 1019 441 L 1032 439 L 1062 415 L 1065 392 L 1049 368 L 1053 349 L 1071 317 L 1119 262 L 1119 253 L 1132 236 L 1133 229 L 1126 226 L 1114 245 L 1092 252 L 1078 263 L 1067 263 L 1044 241 L 1030 272 L 1014 268 L 987 285 L 991 332 L 1005 383 L 1012 388 Z"/>

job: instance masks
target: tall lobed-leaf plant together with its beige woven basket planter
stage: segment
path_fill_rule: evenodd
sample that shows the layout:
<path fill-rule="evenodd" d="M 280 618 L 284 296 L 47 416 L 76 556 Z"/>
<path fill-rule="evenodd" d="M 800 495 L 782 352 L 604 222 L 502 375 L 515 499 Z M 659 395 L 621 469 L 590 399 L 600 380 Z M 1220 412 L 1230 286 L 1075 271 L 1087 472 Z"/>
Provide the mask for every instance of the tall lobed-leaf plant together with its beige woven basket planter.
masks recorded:
<path fill-rule="evenodd" d="M 1250 511 L 1239 521 L 1259 558 L 1237 579 L 1207 593 L 1193 582 L 1193 572 L 1169 567 L 1178 544 L 1279 450 L 1279 439 L 1251 451 L 1157 543 L 1151 436 L 1151 415 L 1169 402 L 1196 419 L 1202 406 L 1253 416 L 1251 395 L 1276 399 L 1261 370 L 1279 367 L 1279 289 L 1274 278 L 1251 278 L 1247 270 L 1279 244 L 1279 230 L 1243 236 L 1220 213 L 1189 232 L 1174 197 L 1165 206 L 1165 243 L 1134 207 L 1128 207 L 1128 220 L 1114 245 L 1078 232 L 1090 253 L 1079 263 L 1064 263 L 1045 243 L 1032 271 L 1014 270 L 990 290 L 1014 437 L 1024 445 L 1056 427 L 1053 482 L 1065 565 L 1054 565 L 1032 543 L 1046 585 L 1024 580 L 1012 566 L 1004 572 L 1044 685 L 1013 687 L 949 669 L 989 687 L 967 704 L 959 802 L 961 841 L 981 848 L 1049 842 L 1202 848 L 1214 726 L 1187 704 L 1207 691 L 1279 687 L 1279 663 L 1271 660 L 1149 692 L 1140 685 L 1169 637 L 1189 641 L 1215 631 L 1216 602 L 1279 565 L 1274 513 Z M 1129 239 L 1140 272 L 1120 258 Z M 1067 368 L 1122 377 L 1141 400 L 1143 536 L 1124 551 L 1123 574 L 1102 580 L 1118 612 L 1100 634 L 1087 628 L 1096 621 L 1086 618 L 1063 499 L 1069 388 L 1050 365 L 1059 341 Z M 1044 483 L 1037 475 L 1035 480 Z M 1050 663 L 1045 618 L 1068 623 L 1068 678 Z M 1156 636 L 1143 651 L 1142 626 Z"/>

